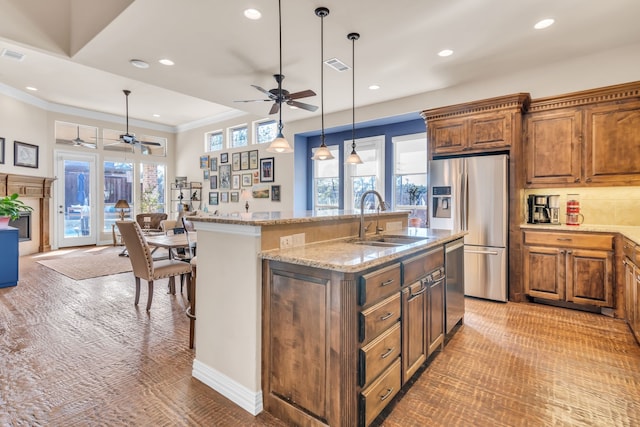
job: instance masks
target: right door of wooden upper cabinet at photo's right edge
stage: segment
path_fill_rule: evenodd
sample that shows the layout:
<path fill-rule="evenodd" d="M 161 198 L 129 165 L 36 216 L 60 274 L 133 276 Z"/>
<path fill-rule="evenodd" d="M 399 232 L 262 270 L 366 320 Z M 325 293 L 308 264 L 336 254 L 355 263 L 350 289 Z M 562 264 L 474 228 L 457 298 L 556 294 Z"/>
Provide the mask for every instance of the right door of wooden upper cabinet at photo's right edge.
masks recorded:
<path fill-rule="evenodd" d="M 640 183 L 640 102 L 585 111 L 585 181 Z"/>

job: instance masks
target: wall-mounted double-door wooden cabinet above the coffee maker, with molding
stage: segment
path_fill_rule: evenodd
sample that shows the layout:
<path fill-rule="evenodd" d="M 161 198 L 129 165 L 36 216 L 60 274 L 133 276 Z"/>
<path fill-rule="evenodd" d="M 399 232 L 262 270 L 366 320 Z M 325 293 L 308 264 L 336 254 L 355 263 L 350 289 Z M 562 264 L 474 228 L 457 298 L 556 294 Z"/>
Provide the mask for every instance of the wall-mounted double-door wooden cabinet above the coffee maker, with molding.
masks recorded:
<path fill-rule="evenodd" d="M 525 185 L 640 184 L 640 82 L 531 101 Z"/>

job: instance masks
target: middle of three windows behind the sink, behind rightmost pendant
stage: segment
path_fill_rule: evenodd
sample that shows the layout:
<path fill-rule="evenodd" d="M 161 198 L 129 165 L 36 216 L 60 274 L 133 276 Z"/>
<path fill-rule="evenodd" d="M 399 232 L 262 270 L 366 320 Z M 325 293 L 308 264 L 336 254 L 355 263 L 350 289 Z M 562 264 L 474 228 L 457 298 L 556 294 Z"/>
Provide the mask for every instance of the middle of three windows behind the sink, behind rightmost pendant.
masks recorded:
<path fill-rule="evenodd" d="M 345 158 L 351 153 L 351 140 L 344 142 Z M 361 165 L 347 165 L 344 170 L 344 208 L 360 209 L 360 197 L 365 191 L 376 190 L 384 198 L 384 135 L 356 139 L 356 151 Z M 367 199 L 369 200 L 369 199 Z M 372 197 L 372 203 L 377 203 Z M 375 209 L 365 204 L 365 209 Z"/>

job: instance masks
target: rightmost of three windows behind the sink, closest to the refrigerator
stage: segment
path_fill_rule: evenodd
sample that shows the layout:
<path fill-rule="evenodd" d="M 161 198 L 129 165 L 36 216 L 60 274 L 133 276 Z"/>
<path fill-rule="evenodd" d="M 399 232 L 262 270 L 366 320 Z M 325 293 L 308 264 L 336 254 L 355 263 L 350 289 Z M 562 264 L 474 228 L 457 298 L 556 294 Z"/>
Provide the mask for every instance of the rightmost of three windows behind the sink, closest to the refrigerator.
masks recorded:
<path fill-rule="evenodd" d="M 427 135 L 398 136 L 392 143 L 394 209 L 411 210 L 410 218 L 426 227 Z"/>

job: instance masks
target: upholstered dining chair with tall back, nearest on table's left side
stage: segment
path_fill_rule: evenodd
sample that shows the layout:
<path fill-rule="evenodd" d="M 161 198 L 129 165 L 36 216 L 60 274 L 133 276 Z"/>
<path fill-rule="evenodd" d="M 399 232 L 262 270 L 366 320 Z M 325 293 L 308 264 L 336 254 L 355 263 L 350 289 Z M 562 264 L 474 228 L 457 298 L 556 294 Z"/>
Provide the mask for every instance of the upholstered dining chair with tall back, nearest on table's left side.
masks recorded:
<path fill-rule="evenodd" d="M 138 305 L 140 299 L 140 279 L 146 280 L 149 284 L 147 311 L 151 308 L 154 280 L 169 278 L 169 292 L 172 294 L 176 292 L 175 276 L 186 276 L 187 280 L 191 280 L 191 264 L 172 259 L 153 259 L 151 248 L 147 245 L 142 229 L 136 221 L 117 221 L 116 224 L 129 253 L 133 275 L 136 278 L 135 305 Z"/>

